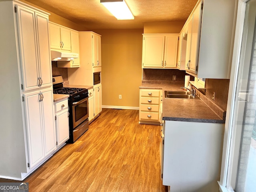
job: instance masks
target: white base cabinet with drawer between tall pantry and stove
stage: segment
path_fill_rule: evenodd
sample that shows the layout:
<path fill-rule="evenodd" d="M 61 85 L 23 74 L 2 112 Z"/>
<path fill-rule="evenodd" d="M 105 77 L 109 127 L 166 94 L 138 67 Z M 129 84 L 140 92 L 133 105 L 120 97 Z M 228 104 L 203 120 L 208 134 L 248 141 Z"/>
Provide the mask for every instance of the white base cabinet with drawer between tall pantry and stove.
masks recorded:
<path fill-rule="evenodd" d="M 56 146 L 59 149 L 69 139 L 68 98 L 54 102 L 54 106 L 57 136 Z"/>

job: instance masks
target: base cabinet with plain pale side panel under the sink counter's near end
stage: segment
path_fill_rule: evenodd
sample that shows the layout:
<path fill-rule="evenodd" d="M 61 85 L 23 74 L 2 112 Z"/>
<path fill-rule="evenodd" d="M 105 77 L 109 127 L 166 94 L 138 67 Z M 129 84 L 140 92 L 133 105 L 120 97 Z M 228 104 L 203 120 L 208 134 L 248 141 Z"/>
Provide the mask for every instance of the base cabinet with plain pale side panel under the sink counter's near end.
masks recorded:
<path fill-rule="evenodd" d="M 172 192 L 217 192 L 224 124 L 164 121 L 161 177 Z"/>

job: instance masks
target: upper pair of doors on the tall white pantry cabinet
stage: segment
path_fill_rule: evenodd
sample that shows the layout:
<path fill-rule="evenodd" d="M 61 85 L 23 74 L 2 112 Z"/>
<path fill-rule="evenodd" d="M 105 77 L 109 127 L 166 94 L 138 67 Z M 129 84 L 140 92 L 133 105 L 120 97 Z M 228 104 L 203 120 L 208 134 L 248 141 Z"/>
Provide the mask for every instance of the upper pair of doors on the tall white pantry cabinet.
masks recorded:
<path fill-rule="evenodd" d="M 51 86 L 48 17 L 23 6 L 16 7 L 23 90 Z"/>

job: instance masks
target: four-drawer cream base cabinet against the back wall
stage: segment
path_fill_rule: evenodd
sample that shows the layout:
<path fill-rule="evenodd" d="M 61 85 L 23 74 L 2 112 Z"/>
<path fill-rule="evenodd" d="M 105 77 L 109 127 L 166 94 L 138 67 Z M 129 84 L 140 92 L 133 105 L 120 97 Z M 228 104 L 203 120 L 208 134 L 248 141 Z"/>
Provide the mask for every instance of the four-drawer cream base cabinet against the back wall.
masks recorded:
<path fill-rule="evenodd" d="M 161 124 L 162 122 L 162 90 L 140 89 L 141 124 Z"/>

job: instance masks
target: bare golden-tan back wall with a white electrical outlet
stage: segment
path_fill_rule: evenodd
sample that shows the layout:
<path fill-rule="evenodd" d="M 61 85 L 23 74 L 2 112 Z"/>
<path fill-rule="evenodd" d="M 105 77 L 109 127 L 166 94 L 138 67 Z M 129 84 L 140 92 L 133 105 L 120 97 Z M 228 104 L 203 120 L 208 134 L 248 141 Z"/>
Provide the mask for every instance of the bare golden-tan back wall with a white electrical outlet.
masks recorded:
<path fill-rule="evenodd" d="M 102 35 L 102 105 L 138 107 L 143 29 L 94 32 Z"/>

